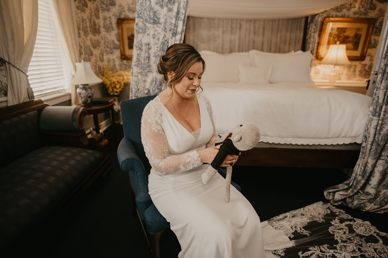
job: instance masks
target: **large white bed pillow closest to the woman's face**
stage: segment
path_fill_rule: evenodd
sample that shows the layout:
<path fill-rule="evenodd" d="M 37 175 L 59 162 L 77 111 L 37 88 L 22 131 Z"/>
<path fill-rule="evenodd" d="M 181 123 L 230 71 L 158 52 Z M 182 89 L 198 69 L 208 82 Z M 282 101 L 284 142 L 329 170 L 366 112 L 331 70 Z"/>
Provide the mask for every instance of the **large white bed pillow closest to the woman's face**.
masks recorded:
<path fill-rule="evenodd" d="M 239 63 L 251 64 L 248 52 L 218 54 L 203 50 L 199 54 L 206 65 L 201 82 L 239 82 Z"/>

